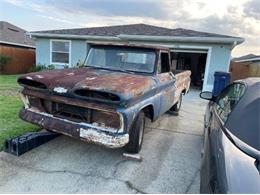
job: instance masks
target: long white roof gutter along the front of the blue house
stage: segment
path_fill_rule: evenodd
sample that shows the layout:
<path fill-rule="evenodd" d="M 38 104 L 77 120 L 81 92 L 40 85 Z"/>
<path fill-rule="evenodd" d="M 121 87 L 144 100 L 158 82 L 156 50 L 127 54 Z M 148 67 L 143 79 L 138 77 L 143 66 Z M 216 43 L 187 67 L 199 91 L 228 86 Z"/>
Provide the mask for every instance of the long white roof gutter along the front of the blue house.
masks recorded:
<path fill-rule="evenodd" d="M 117 36 L 91 36 L 91 35 L 69 35 L 52 33 L 27 33 L 32 37 L 63 38 L 63 39 L 87 39 L 103 41 L 155 41 L 155 42 L 190 42 L 190 43 L 226 43 L 234 46 L 243 43 L 240 37 L 184 37 L 184 36 L 144 36 L 144 35 L 125 35 Z"/>

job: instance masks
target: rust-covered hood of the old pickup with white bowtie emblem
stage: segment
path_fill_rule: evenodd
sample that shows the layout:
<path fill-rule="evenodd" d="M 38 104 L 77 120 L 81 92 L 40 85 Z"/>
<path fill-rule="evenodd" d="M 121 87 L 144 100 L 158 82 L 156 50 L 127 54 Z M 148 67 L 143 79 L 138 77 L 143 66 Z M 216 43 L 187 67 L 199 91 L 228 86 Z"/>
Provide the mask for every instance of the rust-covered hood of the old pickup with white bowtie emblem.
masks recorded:
<path fill-rule="evenodd" d="M 142 96 L 155 87 L 156 80 L 152 76 L 84 67 L 29 73 L 19 77 L 18 83 L 36 83 L 56 93 L 74 93 L 79 89 L 106 92 L 122 101 Z"/>

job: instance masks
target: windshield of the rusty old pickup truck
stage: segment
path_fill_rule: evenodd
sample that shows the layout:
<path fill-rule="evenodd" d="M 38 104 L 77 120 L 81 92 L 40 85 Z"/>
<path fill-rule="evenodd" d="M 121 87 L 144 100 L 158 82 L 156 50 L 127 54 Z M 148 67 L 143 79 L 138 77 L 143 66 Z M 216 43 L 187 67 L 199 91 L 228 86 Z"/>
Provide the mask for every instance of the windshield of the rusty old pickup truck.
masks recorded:
<path fill-rule="evenodd" d="M 92 47 L 86 65 L 119 71 L 152 73 L 155 51 L 143 48 L 96 46 Z"/>

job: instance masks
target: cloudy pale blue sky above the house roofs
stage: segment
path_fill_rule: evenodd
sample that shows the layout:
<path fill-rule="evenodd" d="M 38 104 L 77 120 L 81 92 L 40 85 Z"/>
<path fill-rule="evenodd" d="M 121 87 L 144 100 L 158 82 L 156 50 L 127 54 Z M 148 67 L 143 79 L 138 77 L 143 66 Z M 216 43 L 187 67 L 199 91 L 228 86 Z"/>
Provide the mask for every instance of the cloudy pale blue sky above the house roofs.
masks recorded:
<path fill-rule="evenodd" d="M 145 23 L 245 38 L 260 55 L 260 0 L 0 0 L 0 20 L 27 31 Z"/>

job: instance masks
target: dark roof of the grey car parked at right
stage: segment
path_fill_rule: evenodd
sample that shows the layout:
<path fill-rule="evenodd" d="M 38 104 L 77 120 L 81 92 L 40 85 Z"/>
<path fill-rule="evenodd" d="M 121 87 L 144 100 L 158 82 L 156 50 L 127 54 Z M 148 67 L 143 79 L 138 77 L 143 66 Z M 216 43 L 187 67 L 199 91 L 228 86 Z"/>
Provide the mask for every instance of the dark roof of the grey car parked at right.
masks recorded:
<path fill-rule="evenodd" d="M 260 78 L 247 78 L 235 83 L 245 84 L 246 90 L 225 126 L 239 139 L 260 151 Z"/>

